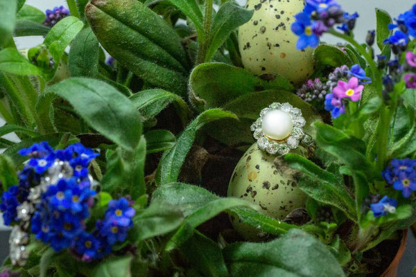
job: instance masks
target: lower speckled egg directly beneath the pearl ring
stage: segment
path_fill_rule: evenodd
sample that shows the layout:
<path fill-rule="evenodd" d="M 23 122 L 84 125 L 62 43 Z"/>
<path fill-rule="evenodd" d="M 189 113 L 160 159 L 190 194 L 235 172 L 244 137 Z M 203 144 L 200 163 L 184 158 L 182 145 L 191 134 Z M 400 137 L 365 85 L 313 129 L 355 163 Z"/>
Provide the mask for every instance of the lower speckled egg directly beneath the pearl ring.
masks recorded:
<path fill-rule="evenodd" d="M 306 154 L 301 147 L 292 152 Z M 259 150 L 254 143 L 237 163 L 227 195 L 257 204 L 263 214 L 284 220 L 295 208 L 306 204 L 306 195 L 296 186 L 296 174 L 297 171 L 290 168 L 282 157 L 276 159 L 276 156 Z M 230 219 L 243 238 L 255 240 L 258 237 L 259 230 L 241 223 L 236 216 Z"/>

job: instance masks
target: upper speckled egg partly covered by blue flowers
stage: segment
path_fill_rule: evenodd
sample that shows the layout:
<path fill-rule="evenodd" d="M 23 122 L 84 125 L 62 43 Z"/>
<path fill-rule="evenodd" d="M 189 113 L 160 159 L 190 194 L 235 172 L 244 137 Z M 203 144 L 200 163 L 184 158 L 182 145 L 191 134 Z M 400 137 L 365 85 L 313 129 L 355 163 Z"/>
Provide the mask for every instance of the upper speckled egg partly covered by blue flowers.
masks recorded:
<path fill-rule="evenodd" d="M 302 12 L 304 0 L 248 0 L 254 10 L 239 28 L 239 48 L 245 69 L 256 74 L 277 73 L 295 84 L 313 73 L 313 49 L 297 50 L 297 35 L 291 30 L 294 15 Z"/>

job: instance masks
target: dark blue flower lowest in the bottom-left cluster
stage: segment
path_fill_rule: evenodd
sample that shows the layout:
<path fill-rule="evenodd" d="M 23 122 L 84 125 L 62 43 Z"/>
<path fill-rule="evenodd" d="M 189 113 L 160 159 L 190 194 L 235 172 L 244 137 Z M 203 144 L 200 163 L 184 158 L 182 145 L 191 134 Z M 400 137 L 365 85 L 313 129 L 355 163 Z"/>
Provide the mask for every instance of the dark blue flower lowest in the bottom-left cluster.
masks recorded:
<path fill-rule="evenodd" d="M 73 249 L 82 256 L 84 262 L 91 262 L 97 258 L 101 258 L 101 241 L 91 233 L 83 232 L 78 235 L 76 241 L 73 242 Z"/>

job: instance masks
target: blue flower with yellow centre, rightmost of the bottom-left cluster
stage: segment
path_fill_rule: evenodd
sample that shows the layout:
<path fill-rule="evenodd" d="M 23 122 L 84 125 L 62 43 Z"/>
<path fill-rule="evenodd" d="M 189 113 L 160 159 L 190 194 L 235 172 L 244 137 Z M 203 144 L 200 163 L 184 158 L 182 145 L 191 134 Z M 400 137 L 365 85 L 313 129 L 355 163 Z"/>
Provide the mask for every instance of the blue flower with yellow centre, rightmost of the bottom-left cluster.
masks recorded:
<path fill-rule="evenodd" d="M 120 226 L 130 227 L 133 224 L 132 217 L 135 213 L 135 209 L 129 206 L 127 199 L 110 200 L 105 212 L 105 219 L 110 220 L 110 218 L 114 218 Z"/>

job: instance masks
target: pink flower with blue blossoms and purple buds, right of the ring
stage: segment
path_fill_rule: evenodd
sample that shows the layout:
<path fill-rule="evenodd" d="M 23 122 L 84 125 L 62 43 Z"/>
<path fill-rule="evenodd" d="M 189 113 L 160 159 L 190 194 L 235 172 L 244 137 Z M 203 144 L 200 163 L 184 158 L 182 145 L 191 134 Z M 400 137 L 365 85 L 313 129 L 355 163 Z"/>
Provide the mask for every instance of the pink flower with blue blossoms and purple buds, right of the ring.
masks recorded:
<path fill-rule="evenodd" d="M 336 68 L 329 74 L 327 84 L 332 93 L 325 96 L 325 109 L 331 112 L 333 118 L 345 114 L 347 101 L 357 102 L 361 99 L 364 84 L 371 82 L 371 78 L 365 76 L 364 69 L 354 64 L 351 69 L 348 66 Z"/>

